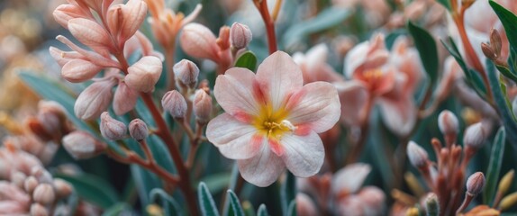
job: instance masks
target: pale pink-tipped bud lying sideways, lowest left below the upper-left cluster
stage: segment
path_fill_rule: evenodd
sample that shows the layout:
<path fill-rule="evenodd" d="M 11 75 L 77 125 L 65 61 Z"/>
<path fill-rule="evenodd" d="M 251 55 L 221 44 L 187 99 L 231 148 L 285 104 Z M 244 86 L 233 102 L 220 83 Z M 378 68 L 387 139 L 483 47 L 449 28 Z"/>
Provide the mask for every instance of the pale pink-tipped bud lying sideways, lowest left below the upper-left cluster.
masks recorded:
<path fill-rule="evenodd" d="M 102 153 L 107 145 L 95 139 L 85 131 L 74 131 L 65 136 L 62 140 L 63 146 L 68 153 L 77 159 L 94 157 Z"/>

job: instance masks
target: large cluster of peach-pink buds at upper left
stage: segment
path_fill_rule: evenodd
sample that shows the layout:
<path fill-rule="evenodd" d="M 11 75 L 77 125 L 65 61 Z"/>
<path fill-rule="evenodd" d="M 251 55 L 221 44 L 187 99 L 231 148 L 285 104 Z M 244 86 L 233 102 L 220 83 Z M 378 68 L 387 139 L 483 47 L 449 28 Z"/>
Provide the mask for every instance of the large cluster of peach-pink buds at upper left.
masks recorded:
<path fill-rule="evenodd" d="M 72 0 L 56 8 L 56 21 L 91 49 L 82 49 L 59 35 L 57 39 L 73 50 L 50 47 L 50 55 L 62 67 L 61 76 L 79 83 L 94 78 L 104 69 L 104 77 L 94 79 L 95 83 L 77 98 L 74 107 L 77 117 L 95 119 L 112 100 L 116 114 L 129 112 L 139 93 L 154 90 L 161 75 L 163 57 L 138 31 L 146 14 L 147 4 L 141 0 L 130 0 L 126 4 L 115 4 L 113 0 Z M 136 50 L 141 50 L 142 58 L 128 65 L 126 58 Z M 112 89 L 116 85 L 119 87 L 113 99 Z"/>

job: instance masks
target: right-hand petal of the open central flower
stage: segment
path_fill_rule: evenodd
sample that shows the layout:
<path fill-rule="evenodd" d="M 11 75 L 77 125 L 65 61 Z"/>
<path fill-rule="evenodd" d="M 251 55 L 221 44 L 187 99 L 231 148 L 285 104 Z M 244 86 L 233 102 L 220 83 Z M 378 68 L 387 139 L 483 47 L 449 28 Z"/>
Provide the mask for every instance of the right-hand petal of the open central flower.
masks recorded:
<path fill-rule="evenodd" d="M 317 132 L 331 129 L 340 120 L 340 98 L 330 83 L 314 82 L 293 94 L 286 104 L 287 120 L 294 125 L 310 124 Z"/>

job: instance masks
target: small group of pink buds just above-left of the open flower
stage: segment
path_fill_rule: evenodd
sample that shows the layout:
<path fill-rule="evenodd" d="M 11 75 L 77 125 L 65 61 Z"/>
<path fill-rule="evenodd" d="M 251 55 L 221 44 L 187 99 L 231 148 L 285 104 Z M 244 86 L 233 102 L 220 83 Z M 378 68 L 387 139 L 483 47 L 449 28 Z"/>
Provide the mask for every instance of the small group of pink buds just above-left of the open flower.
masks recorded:
<path fill-rule="evenodd" d="M 183 28 L 179 41 L 186 54 L 212 60 L 218 65 L 218 74 L 222 74 L 238 58 L 239 51 L 246 49 L 250 40 L 249 27 L 241 23 L 233 23 L 231 28 L 222 26 L 219 38 L 215 38 L 204 25 L 189 23 Z"/>

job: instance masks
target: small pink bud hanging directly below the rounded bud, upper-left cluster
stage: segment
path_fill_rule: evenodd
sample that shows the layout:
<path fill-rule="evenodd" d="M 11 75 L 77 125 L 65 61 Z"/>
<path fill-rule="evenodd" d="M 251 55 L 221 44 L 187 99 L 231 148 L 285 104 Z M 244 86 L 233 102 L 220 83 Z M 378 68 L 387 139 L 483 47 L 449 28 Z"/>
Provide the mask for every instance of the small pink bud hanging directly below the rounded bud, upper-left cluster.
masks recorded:
<path fill-rule="evenodd" d="M 130 112 L 138 100 L 139 94 L 133 91 L 125 82 L 119 82 L 113 96 L 113 111 L 116 115 Z"/>

